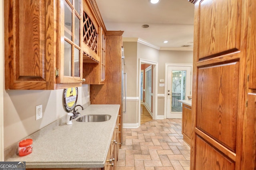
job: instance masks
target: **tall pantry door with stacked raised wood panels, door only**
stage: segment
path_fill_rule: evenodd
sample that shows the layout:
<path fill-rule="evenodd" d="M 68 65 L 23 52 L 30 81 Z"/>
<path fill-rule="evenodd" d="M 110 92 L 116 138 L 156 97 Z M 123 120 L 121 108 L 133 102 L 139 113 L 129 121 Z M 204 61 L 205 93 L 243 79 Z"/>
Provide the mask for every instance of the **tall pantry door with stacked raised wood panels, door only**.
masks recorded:
<path fill-rule="evenodd" d="M 241 0 L 195 2 L 191 170 L 239 170 L 246 80 Z"/>

